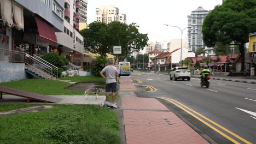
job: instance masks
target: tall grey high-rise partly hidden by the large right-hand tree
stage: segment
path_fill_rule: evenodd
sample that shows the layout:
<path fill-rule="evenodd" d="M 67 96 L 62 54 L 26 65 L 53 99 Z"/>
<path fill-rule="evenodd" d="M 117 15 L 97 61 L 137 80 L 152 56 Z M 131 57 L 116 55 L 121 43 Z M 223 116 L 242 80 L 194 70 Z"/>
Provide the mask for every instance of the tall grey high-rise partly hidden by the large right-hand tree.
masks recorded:
<path fill-rule="evenodd" d="M 202 39 L 202 23 L 208 13 L 210 13 L 210 11 L 198 7 L 191 12 L 191 15 L 188 15 L 189 51 L 196 51 L 201 47 L 205 47 Z"/>

